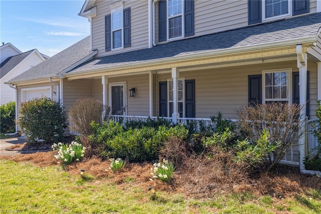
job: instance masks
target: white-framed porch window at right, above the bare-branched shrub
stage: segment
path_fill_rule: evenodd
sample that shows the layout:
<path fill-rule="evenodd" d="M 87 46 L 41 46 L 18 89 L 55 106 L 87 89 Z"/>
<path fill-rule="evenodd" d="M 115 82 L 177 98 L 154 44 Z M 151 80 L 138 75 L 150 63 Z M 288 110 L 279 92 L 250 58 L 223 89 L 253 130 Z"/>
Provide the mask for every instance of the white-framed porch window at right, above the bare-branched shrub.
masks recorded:
<path fill-rule="evenodd" d="M 291 70 L 263 71 L 263 103 L 290 103 Z"/>

